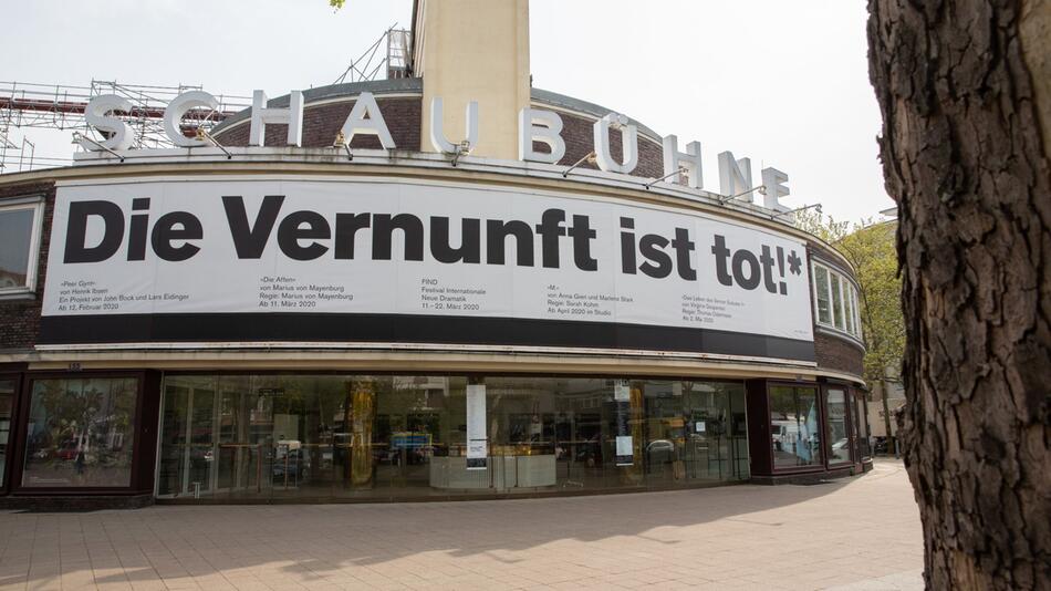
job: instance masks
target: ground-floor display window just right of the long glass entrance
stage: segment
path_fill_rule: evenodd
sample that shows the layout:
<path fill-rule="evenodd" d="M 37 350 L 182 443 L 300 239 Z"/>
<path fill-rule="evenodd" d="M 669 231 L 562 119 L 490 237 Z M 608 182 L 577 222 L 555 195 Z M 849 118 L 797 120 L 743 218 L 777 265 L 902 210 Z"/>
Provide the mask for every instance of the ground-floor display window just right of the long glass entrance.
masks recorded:
<path fill-rule="evenodd" d="M 820 465 L 821 429 L 816 390 L 771 386 L 769 394 L 773 467 Z"/>

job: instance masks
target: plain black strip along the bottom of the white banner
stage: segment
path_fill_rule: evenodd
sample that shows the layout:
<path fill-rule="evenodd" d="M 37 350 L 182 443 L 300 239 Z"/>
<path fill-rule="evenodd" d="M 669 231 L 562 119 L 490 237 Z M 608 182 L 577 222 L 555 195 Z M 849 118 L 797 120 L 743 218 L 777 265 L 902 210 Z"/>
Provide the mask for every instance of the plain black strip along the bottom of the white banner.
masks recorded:
<path fill-rule="evenodd" d="M 612 322 L 294 312 L 43 317 L 40 324 L 40 344 L 392 342 L 681 351 L 814 361 L 811 341 Z"/>

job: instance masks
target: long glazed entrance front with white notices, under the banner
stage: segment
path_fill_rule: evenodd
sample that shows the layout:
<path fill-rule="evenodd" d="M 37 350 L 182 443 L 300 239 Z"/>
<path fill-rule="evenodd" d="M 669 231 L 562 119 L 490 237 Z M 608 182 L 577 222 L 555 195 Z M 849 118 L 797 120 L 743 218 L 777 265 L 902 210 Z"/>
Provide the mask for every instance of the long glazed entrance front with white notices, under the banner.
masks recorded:
<path fill-rule="evenodd" d="M 404 498 L 748 477 L 741 383 L 586 377 L 169 375 L 158 494 Z M 478 386 L 474 386 L 478 387 Z M 483 425 L 483 469 L 468 425 Z"/>

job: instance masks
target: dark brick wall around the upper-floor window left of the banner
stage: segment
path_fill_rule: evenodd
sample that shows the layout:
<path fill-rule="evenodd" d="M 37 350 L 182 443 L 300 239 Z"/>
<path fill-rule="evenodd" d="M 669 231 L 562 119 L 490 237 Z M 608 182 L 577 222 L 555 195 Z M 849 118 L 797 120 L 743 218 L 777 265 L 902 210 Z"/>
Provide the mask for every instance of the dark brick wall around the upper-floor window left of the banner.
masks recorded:
<path fill-rule="evenodd" d="M 51 242 L 54 184 L 37 183 L 0 187 L 0 205 L 12 197 L 37 195 L 43 195 L 45 198 L 40 258 L 37 261 L 37 297 L 24 300 L 0 300 L 0 350 L 28 350 L 37 343 L 37 335 L 40 332 L 40 307 L 46 280 L 48 245 Z"/>

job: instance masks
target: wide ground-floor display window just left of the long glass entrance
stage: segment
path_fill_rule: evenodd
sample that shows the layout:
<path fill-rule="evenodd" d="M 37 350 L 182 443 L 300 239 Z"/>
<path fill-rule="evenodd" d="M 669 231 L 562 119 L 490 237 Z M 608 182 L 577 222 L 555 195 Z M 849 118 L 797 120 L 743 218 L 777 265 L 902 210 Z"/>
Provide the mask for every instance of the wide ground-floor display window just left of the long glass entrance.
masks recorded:
<path fill-rule="evenodd" d="M 22 486 L 127 487 L 138 380 L 35 380 Z"/>

